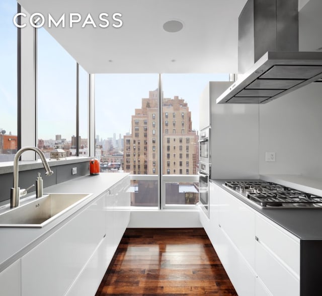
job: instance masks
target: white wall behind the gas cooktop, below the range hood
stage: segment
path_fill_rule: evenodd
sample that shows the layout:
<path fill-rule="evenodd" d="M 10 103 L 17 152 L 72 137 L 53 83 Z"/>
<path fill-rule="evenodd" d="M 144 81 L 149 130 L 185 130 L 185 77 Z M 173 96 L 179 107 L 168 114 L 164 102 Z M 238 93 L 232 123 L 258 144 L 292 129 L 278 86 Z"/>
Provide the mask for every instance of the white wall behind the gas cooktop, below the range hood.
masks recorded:
<path fill-rule="evenodd" d="M 265 162 L 275 152 L 275 162 Z M 322 83 L 260 106 L 260 174 L 322 178 Z"/>

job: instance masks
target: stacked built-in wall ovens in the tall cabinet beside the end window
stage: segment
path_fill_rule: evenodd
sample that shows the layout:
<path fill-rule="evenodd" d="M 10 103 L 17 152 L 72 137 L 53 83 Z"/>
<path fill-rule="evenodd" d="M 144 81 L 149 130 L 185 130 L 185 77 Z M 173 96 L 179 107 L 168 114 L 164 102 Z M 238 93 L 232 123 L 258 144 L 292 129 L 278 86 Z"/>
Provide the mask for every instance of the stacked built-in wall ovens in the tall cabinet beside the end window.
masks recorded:
<path fill-rule="evenodd" d="M 199 138 L 199 205 L 209 218 L 210 127 L 200 131 Z"/>

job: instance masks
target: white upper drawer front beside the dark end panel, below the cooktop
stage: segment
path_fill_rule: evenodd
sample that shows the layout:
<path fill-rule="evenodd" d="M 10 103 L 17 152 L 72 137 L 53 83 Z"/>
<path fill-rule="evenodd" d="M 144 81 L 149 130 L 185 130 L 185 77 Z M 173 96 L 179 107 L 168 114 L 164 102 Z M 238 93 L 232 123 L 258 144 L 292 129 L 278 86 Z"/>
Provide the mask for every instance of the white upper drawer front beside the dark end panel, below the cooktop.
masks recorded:
<path fill-rule="evenodd" d="M 256 215 L 256 237 L 259 242 L 276 255 L 287 268 L 299 278 L 300 274 L 300 242 L 299 239 L 284 229 Z"/>

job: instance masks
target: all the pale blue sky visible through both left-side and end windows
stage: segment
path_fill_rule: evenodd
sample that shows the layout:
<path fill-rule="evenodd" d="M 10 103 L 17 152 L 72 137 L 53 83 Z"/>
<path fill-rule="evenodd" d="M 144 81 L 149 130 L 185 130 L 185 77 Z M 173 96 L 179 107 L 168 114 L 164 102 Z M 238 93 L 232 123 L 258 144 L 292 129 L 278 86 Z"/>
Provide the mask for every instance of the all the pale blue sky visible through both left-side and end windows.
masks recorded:
<path fill-rule="evenodd" d="M 0 128 L 17 134 L 17 29 L 13 16 L 15 1 L 0 2 Z M 38 138 L 54 139 L 56 134 L 70 140 L 75 135 L 76 61 L 44 28 L 37 30 Z M 8 70 L 7 70 L 8 69 Z M 80 127 L 87 137 L 87 79 L 79 69 Z M 199 124 L 199 96 L 209 81 L 227 80 L 219 74 L 162 74 L 165 98 L 179 96 L 192 111 L 193 128 Z M 95 76 L 96 134 L 106 139 L 130 131 L 131 115 L 141 107 L 141 99 L 158 88 L 158 73 L 97 74 Z"/>

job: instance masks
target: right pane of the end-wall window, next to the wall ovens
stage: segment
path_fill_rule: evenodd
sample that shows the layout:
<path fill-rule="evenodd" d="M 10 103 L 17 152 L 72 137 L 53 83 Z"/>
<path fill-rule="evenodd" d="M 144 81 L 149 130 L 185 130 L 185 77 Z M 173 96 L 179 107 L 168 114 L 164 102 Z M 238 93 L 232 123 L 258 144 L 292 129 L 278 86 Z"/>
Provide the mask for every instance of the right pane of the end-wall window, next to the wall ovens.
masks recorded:
<path fill-rule="evenodd" d="M 228 75 L 162 75 L 163 207 L 189 206 L 199 200 L 199 97 L 210 81 Z"/>

